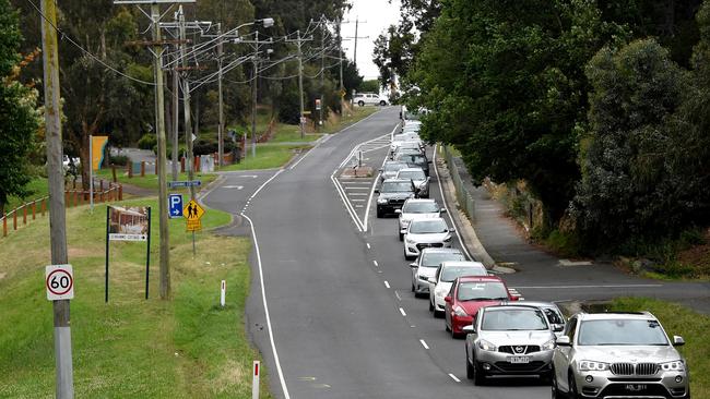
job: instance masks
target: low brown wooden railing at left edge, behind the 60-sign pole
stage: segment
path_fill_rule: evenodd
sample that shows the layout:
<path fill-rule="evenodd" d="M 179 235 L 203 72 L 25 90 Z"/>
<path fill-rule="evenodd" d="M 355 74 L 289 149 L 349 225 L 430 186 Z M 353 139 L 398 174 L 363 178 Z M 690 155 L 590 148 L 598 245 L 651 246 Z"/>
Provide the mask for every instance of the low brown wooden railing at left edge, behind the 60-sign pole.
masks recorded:
<path fill-rule="evenodd" d="M 107 188 L 104 189 L 104 180 L 100 180 L 94 190 L 94 202 L 104 203 L 113 201 L 122 201 L 123 200 L 123 186 L 121 184 L 114 184 L 107 182 Z M 80 206 L 86 205 L 90 203 L 90 191 L 86 190 L 66 190 L 64 191 L 64 206 Z M 10 232 L 9 223 L 12 223 L 12 231 L 16 231 L 20 227 L 26 226 L 28 220 L 35 220 L 37 216 L 44 217 L 48 211 L 47 202 L 49 196 L 44 196 L 37 198 L 33 202 L 22 204 L 21 206 L 5 213 L 3 216 L 0 216 L 2 220 L 2 237 L 8 237 Z"/>

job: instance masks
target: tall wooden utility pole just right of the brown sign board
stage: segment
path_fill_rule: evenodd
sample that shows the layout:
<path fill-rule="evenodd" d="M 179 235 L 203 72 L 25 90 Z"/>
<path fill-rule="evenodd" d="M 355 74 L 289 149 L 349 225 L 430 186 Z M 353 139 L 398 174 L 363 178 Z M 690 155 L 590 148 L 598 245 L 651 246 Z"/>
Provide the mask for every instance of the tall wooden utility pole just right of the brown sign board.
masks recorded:
<path fill-rule="evenodd" d="M 157 3 L 151 5 L 151 20 L 153 21 L 153 41 L 154 41 L 154 59 L 153 69 L 155 70 L 155 111 L 157 112 L 157 203 L 158 203 L 158 220 L 159 220 L 159 262 L 161 262 L 161 299 L 166 300 L 170 297 L 170 247 L 168 237 L 168 207 L 167 207 L 167 157 L 165 154 L 167 141 L 165 137 L 165 100 L 163 98 L 163 46 L 161 41 L 161 9 Z"/>

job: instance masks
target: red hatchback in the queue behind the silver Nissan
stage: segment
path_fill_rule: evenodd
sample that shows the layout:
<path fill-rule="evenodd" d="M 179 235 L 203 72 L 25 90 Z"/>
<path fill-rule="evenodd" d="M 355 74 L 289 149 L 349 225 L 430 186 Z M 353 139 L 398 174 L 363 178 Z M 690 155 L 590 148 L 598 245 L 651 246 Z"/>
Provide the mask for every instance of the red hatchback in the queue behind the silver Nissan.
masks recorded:
<path fill-rule="evenodd" d="M 446 328 L 452 337 L 463 334 L 462 328 L 473 323 L 481 307 L 498 305 L 501 301 L 517 301 L 508 287 L 496 276 L 460 277 L 443 299 Z"/>

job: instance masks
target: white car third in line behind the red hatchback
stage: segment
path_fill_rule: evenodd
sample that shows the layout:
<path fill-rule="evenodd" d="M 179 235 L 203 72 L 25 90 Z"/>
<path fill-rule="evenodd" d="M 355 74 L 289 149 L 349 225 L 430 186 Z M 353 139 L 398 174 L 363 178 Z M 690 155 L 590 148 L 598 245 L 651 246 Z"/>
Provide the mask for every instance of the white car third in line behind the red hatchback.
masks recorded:
<path fill-rule="evenodd" d="M 425 247 L 451 247 L 454 231 L 440 217 L 412 220 L 404 234 L 404 258 L 417 257 Z"/>

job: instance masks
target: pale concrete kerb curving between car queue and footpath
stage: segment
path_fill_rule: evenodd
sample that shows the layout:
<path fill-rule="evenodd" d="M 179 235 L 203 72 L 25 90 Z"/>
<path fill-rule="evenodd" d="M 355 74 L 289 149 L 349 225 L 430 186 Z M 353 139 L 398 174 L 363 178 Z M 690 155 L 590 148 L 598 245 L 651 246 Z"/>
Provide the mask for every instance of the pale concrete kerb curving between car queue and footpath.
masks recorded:
<path fill-rule="evenodd" d="M 461 210 L 455 186 L 453 184 L 452 177 L 449 172 L 449 168 L 447 167 L 446 161 L 443 161 L 442 158 L 438 158 L 435 167 L 439 169 L 439 179 L 441 179 L 441 185 L 443 188 L 442 195 L 447 197 L 447 201 L 449 203 L 457 205 L 455 207 L 449 207 L 449 211 L 451 213 L 451 216 L 458 221 L 459 234 L 461 234 L 464 245 L 466 245 L 469 252 L 471 252 L 478 261 L 481 261 L 481 263 L 483 263 L 488 269 L 493 270 L 494 273 L 516 273 L 516 270 L 510 267 L 497 265 L 496 261 L 493 259 L 493 257 L 488 254 L 486 249 L 481 243 L 481 240 L 478 240 L 471 220 Z"/>

